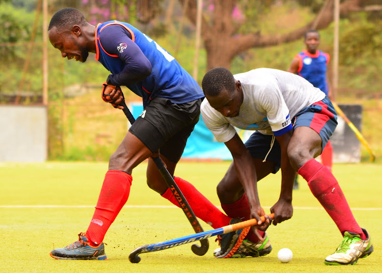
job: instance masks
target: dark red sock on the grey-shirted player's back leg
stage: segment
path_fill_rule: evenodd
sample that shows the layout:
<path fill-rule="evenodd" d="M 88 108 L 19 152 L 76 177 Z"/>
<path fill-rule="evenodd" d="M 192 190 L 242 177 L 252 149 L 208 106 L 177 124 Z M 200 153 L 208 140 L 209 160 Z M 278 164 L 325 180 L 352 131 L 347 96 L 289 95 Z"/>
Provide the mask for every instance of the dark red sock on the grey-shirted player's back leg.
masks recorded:
<path fill-rule="evenodd" d="M 222 204 L 223 210 L 227 213 L 228 216 L 232 218 L 242 218 L 243 220 L 250 220 L 251 217 L 251 209 L 250 204 L 248 203 L 247 195 L 243 194 L 237 201 L 231 204 Z M 259 230 L 261 236 L 264 236 L 264 232 Z M 255 233 L 251 230 L 248 232 L 245 239 L 257 243 L 260 241 Z"/>

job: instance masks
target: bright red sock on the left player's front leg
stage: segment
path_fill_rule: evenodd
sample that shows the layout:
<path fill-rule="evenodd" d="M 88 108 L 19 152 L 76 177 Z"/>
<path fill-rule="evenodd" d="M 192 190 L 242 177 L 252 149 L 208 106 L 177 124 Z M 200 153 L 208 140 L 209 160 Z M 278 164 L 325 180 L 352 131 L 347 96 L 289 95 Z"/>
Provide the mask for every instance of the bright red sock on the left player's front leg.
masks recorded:
<path fill-rule="evenodd" d="M 97 206 L 86 237 L 94 244 L 102 242 L 130 194 L 132 176 L 121 171 L 107 171 Z"/>

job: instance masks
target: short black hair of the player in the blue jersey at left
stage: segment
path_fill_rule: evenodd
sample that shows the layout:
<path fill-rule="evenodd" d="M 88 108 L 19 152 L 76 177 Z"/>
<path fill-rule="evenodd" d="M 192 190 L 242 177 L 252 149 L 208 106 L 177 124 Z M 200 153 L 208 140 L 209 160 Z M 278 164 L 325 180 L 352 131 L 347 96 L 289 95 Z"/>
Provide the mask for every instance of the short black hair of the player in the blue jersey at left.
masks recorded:
<path fill-rule="evenodd" d="M 71 31 L 73 25 L 78 24 L 79 26 L 86 25 L 84 14 L 79 10 L 73 8 L 65 8 L 54 13 L 53 17 L 50 19 L 48 31 L 56 26 L 59 32 Z"/>

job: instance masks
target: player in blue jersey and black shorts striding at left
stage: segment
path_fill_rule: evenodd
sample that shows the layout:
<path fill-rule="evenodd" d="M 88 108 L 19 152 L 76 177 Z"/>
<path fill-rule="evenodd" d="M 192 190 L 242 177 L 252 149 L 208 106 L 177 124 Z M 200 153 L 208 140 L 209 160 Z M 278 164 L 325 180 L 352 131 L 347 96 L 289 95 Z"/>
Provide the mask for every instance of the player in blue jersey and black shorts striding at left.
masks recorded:
<path fill-rule="evenodd" d="M 78 10 L 66 8 L 53 15 L 48 34 L 51 44 L 61 51 L 63 58 L 85 62 L 89 52 L 96 54 L 96 60 L 112 73 L 103 84 L 102 98 L 105 101 L 123 108 L 119 105 L 124 99 L 120 86 L 127 86 L 143 99 L 143 113 L 110 157 L 87 232 L 80 233 L 79 240 L 73 244 L 50 253 L 56 259 L 104 260 L 102 241 L 129 197 L 132 170 L 146 158 L 159 156 L 157 151 L 160 149 L 161 159 L 170 174 L 174 174 L 187 138 L 199 120 L 204 95 L 196 81 L 165 49 L 128 23 L 109 21 L 95 26 L 89 24 Z M 210 203 L 192 184 L 179 177 L 174 180 L 195 215 L 211 223 L 213 228 L 236 222 Z M 147 184 L 179 206 L 151 158 Z M 241 236 L 224 235 L 221 242 L 226 253 L 219 258 L 229 256 L 248 230 L 235 233 Z"/>

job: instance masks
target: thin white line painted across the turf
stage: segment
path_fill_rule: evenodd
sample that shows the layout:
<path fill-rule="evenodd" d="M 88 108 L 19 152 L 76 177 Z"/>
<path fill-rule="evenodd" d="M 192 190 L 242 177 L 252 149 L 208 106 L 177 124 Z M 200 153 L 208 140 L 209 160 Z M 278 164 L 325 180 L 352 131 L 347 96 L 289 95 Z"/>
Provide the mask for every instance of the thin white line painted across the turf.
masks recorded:
<path fill-rule="evenodd" d="M 125 205 L 125 208 L 177 208 L 176 206 L 167 205 Z M 90 205 L 0 205 L 0 208 L 94 208 Z M 218 208 L 221 208 L 218 206 Z M 270 207 L 263 207 L 269 209 Z M 323 209 L 320 207 L 293 207 L 293 209 Z M 351 210 L 382 210 L 382 208 L 351 208 Z"/>

